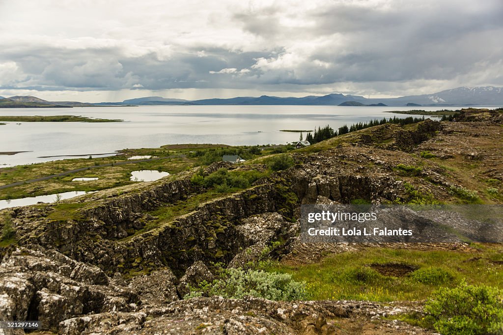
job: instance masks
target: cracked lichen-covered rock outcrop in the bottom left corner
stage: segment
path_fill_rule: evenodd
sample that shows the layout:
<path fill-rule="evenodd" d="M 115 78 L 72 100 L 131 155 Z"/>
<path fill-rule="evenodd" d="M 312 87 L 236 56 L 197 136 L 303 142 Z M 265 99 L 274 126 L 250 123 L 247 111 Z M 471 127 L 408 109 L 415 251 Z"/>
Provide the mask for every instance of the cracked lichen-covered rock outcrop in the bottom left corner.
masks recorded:
<path fill-rule="evenodd" d="M 110 284 L 101 269 L 39 245 L 19 247 L 0 264 L 0 320 L 40 320 L 57 331 L 67 318 L 129 312 L 136 303 L 133 290 Z"/>

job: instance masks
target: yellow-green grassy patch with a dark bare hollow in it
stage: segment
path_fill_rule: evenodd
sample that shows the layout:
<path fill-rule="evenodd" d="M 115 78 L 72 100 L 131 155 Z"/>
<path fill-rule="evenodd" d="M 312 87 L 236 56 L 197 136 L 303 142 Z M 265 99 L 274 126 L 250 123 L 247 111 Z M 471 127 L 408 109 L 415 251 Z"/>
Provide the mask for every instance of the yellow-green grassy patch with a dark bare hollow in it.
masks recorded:
<path fill-rule="evenodd" d="M 455 287 L 463 279 L 503 287 L 503 246 L 472 246 L 475 252 L 367 247 L 330 255 L 316 264 L 273 263 L 266 269 L 307 282 L 313 300 L 424 300 L 436 289 Z"/>

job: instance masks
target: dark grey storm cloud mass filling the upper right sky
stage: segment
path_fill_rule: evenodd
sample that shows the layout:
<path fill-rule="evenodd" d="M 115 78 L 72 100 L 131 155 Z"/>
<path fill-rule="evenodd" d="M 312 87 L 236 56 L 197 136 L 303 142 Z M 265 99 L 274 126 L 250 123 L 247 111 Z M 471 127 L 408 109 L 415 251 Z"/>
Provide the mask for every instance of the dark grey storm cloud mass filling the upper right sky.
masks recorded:
<path fill-rule="evenodd" d="M 269 82 L 309 85 L 337 81 L 403 81 L 414 79 L 449 80 L 480 70 L 477 63 L 501 73 L 503 50 L 498 42 L 503 33 L 503 3 L 489 1 L 478 11 L 463 2 L 430 2 L 424 7 L 412 2 L 366 7 L 342 3 L 310 11 L 310 27 L 274 29 L 273 38 L 288 35 L 317 37 L 320 46 L 311 46 L 296 67 L 281 66 L 281 56 Z M 280 15 L 271 11 L 271 21 Z M 249 32 L 268 38 L 262 13 L 236 16 Z M 323 41 L 326 44 L 323 44 Z M 299 42 L 302 43 L 302 42 Z M 302 50 L 290 48 L 293 52 Z M 316 61 L 326 63 L 324 68 Z M 271 66 L 266 66 L 271 71 Z M 266 72 L 266 71 L 264 71 Z"/>

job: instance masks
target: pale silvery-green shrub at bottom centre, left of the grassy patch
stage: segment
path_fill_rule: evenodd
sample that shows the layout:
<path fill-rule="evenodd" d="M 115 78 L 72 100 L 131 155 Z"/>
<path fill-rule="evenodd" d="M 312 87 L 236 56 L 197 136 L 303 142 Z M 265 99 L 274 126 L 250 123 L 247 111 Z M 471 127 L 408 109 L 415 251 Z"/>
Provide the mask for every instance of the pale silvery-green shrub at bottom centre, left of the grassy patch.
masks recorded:
<path fill-rule="evenodd" d="M 241 299 L 253 296 L 270 300 L 301 300 L 307 297 L 305 282 L 292 280 L 289 274 L 258 270 L 226 269 L 212 283 L 203 282 L 184 298 L 223 296 Z"/>

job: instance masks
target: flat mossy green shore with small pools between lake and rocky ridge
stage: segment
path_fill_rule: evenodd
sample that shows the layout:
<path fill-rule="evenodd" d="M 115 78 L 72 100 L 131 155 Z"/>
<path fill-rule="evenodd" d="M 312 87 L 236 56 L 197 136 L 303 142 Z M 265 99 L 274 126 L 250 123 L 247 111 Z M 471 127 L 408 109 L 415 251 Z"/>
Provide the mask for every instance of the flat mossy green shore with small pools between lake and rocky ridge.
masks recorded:
<path fill-rule="evenodd" d="M 200 165 L 200 157 L 196 153 L 204 153 L 208 150 L 226 148 L 226 145 L 215 144 L 173 144 L 164 145 L 159 148 L 124 149 L 117 156 L 74 158 L 49 161 L 44 163 L 17 165 L 13 167 L 0 168 L 0 186 L 37 179 L 40 177 L 56 175 L 66 171 L 89 167 L 89 170 L 72 173 L 62 177 L 55 177 L 49 180 L 25 183 L 20 186 L 10 187 L 0 190 L 0 200 L 33 197 L 46 194 L 57 194 L 69 191 L 98 191 L 114 187 L 134 184 L 130 181 L 132 171 L 136 170 L 158 170 L 177 174 Z M 280 146 L 284 147 L 284 146 Z M 250 147 L 229 147 L 233 149 L 249 150 Z M 277 149 L 273 146 L 264 146 L 258 155 L 268 155 Z M 150 155 L 156 157 L 166 157 L 149 161 L 128 160 L 130 156 Z M 120 165 L 119 162 L 127 161 L 127 164 Z M 109 164 L 110 166 L 95 167 L 96 165 Z M 99 178 L 96 181 L 72 182 L 73 178 L 89 177 Z"/>

